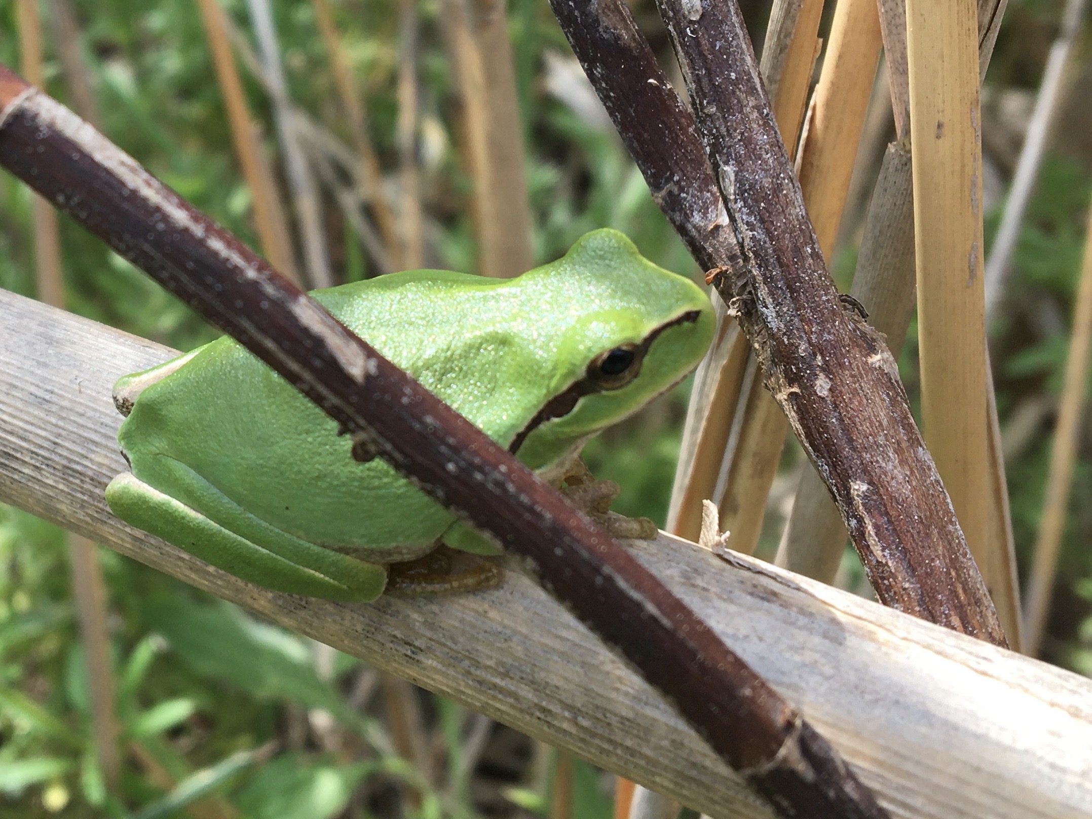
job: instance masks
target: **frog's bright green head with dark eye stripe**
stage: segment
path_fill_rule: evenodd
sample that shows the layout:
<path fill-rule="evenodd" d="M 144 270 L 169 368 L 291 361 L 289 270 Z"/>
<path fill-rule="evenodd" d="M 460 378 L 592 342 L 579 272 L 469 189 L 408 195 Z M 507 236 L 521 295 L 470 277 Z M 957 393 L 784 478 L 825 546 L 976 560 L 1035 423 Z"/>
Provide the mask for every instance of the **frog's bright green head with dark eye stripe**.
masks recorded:
<path fill-rule="evenodd" d="M 510 447 L 532 468 L 674 387 L 713 337 L 713 306 L 702 289 L 644 259 L 617 230 L 586 234 L 563 258 L 520 278 L 541 293 L 537 332 L 556 364 L 548 400 Z"/>

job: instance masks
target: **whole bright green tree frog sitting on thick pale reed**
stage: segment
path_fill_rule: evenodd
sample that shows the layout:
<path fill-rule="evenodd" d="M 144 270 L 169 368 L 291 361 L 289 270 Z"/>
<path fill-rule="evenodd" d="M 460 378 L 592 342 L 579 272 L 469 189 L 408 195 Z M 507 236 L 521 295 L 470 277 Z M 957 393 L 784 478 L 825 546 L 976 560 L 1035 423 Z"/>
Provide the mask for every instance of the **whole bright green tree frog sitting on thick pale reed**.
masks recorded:
<path fill-rule="evenodd" d="M 684 378 L 714 324 L 697 285 L 609 229 L 512 280 L 415 270 L 311 295 L 555 484 L 589 438 Z M 496 554 L 387 462 L 354 460 L 333 419 L 230 337 L 122 378 L 115 403 L 132 472 L 107 487 L 110 509 L 244 580 L 370 601 L 390 566 L 440 544 Z"/>

